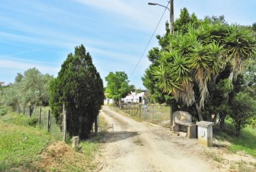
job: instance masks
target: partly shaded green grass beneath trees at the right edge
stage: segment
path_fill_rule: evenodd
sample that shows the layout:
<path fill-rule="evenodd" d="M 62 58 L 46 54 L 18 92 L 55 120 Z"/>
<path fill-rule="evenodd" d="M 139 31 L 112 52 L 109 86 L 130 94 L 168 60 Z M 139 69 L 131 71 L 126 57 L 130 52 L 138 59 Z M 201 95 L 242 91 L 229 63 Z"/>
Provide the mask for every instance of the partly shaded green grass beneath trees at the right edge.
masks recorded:
<path fill-rule="evenodd" d="M 230 151 L 245 152 L 246 154 L 256 157 L 256 129 L 252 129 L 250 126 L 242 129 L 241 135 L 236 137 L 235 127 L 230 119 L 228 119 L 225 122 L 225 129 L 223 131 L 215 129 L 215 138 L 228 140 L 231 144 L 228 147 Z"/>

